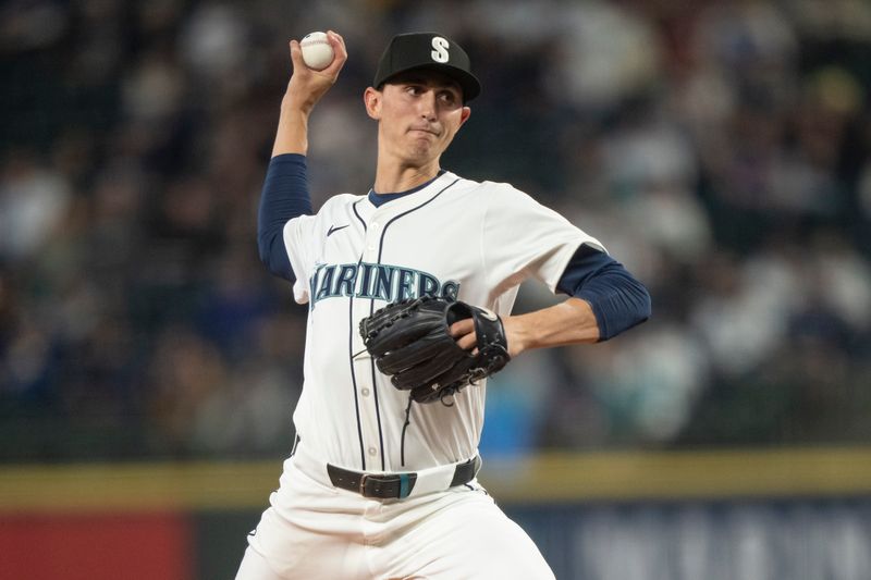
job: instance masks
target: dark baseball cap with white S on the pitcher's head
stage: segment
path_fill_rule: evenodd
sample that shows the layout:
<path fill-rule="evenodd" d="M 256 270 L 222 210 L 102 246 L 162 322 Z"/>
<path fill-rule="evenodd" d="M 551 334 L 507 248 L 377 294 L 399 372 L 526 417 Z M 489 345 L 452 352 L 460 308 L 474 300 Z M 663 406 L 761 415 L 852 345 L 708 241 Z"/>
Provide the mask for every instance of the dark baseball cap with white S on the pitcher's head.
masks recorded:
<path fill-rule="evenodd" d="M 407 33 L 394 36 L 378 61 L 372 86 L 378 88 L 391 77 L 426 69 L 439 71 L 463 89 L 463 101 L 481 92 L 481 83 L 471 74 L 471 62 L 463 47 L 440 33 Z"/>

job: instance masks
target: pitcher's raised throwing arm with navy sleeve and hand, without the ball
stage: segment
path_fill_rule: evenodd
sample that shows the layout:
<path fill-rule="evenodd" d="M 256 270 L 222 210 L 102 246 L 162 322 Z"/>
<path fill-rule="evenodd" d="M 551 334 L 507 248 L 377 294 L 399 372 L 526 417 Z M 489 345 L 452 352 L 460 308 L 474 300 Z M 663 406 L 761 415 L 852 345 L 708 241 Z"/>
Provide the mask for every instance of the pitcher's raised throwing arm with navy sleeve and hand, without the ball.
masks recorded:
<path fill-rule="evenodd" d="M 306 66 L 299 42 L 291 40 L 293 74 L 281 100 L 272 160 L 267 170 L 257 215 L 260 260 L 270 272 L 291 282 L 295 276 L 282 231 L 290 220 L 312 213 L 305 157 L 308 152 L 308 116 L 318 100 L 339 78 L 339 72 L 347 60 L 342 37 L 330 30 L 327 38 L 333 47 L 335 58 L 322 71 L 312 71 Z"/>

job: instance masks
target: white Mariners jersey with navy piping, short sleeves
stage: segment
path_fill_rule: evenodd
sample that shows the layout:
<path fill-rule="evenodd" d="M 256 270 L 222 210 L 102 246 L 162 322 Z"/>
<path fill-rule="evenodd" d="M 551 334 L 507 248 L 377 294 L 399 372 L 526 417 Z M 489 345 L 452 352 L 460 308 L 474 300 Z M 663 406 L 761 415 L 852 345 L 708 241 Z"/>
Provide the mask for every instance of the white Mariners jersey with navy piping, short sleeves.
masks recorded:
<path fill-rule="evenodd" d="M 581 244 L 604 250 L 559 213 L 506 184 L 443 172 L 380 206 L 339 195 L 284 227 L 309 305 L 305 383 L 294 423 L 308 453 L 364 471 L 409 471 L 474 457 L 486 381 L 454 405 L 413 404 L 366 351 L 360 319 L 396 300 L 445 296 L 511 313 L 532 276 L 555 292 Z M 502 372 L 511 372 L 511 365 Z"/>

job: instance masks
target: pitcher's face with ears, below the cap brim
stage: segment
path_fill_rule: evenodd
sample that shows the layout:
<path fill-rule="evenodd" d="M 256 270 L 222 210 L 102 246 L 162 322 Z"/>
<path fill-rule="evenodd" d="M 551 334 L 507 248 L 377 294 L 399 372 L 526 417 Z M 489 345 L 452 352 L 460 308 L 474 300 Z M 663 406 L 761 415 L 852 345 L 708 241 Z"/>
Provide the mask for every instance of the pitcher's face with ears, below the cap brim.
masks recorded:
<path fill-rule="evenodd" d="M 381 146 L 412 164 L 438 159 L 471 112 L 459 85 L 438 72 L 413 71 L 370 90 L 367 110 L 380 121 Z"/>

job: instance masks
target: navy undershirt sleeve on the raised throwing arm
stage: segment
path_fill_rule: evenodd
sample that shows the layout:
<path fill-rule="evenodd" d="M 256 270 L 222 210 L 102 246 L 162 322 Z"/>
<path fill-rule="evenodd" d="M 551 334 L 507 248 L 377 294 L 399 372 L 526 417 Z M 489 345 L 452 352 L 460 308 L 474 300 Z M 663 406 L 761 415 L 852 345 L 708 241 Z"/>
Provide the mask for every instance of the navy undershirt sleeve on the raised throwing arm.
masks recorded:
<path fill-rule="evenodd" d="M 293 282 L 295 275 L 284 247 L 284 224 L 298 215 L 310 215 L 306 157 L 275 156 L 269 162 L 257 212 L 257 247 L 260 261 L 277 276 Z"/>

